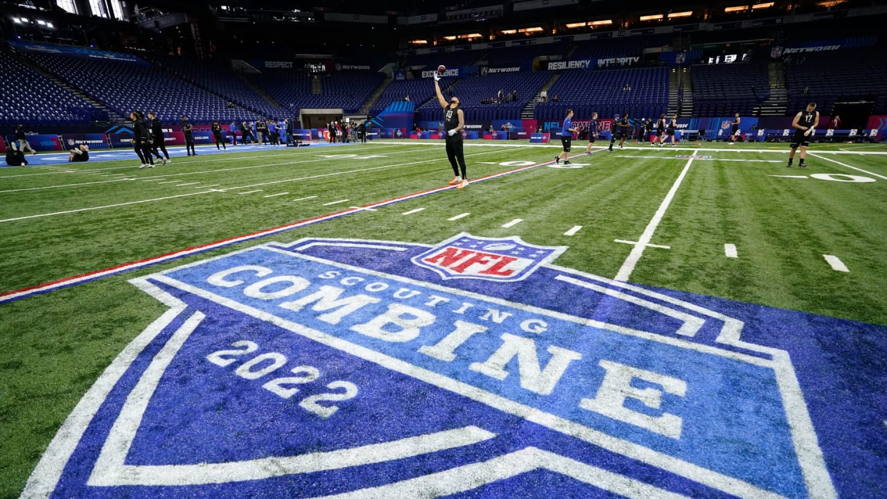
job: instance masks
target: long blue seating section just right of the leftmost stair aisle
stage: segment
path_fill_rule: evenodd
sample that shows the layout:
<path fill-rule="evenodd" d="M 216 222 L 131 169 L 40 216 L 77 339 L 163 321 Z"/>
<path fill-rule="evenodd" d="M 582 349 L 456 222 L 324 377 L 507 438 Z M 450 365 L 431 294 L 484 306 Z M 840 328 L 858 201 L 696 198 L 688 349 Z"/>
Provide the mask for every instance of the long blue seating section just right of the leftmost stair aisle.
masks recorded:
<path fill-rule="evenodd" d="M 164 123 L 188 115 L 193 123 L 255 120 L 259 117 L 241 107 L 170 75 L 161 67 L 114 59 L 86 59 L 65 55 L 31 53 L 29 56 L 107 107 L 129 115 L 133 109 L 154 111 Z"/>

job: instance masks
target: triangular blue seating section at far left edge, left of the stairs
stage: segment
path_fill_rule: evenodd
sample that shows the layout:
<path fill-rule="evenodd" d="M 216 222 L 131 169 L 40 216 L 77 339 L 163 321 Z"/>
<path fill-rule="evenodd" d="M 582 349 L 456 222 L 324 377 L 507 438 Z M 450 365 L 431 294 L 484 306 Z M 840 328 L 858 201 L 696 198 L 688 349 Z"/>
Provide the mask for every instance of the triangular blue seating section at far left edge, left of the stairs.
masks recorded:
<path fill-rule="evenodd" d="M 103 111 L 0 50 L 0 125 L 88 125 Z M 104 115 L 103 115 L 104 114 Z"/>

